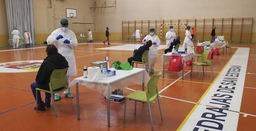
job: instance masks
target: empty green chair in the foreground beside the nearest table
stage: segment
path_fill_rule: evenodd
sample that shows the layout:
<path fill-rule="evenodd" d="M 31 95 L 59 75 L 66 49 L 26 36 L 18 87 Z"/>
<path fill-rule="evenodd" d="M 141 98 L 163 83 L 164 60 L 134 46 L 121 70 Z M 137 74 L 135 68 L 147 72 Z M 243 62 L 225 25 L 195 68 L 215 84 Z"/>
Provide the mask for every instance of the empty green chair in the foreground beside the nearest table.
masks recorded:
<path fill-rule="evenodd" d="M 157 89 L 158 80 L 161 75 L 162 75 L 162 72 L 159 72 L 157 75 L 153 75 L 153 77 L 150 78 L 147 85 L 147 91 L 136 90 L 133 93 L 130 93 L 129 95 L 126 96 L 126 100 L 130 99 L 135 101 L 134 116 L 136 116 L 137 101 L 142 103 L 148 103 L 151 130 L 153 130 L 153 119 L 151 115 L 150 104 L 153 103 L 156 100 L 156 98 L 158 99 L 158 108 L 160 110 L 161 120 L 163 120 L 162 111 L 160 107 L 160 99 L 159 99 L 159 94 Z M 126 100 L 124 101 L 124 123 L 126 122 Z"/>

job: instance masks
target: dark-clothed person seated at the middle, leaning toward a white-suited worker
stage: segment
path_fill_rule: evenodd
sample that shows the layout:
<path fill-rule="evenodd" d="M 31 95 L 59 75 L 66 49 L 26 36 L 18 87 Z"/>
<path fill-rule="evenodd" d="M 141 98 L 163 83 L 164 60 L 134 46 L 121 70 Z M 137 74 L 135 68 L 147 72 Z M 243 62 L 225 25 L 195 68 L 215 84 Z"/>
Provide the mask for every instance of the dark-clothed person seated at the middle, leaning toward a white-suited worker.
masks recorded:
<path fill-rule="evenodd" d="M 132 65 L 132 61 L 142 62 L 142 54 L 144 53 L 144 51 L 149 50 L 151 45 L 152 45 L 152 41 L 149 40 L 149 41 L 147 41 L 146 44 L 144 44 L 143 46 L 140 46 L 139 49 L 135 49 L 134 50 L 134 56 L 129 57 L 128 60 L 127 60 L 130 63 L 130 65 L 134 66 L 134 65 Z"/>

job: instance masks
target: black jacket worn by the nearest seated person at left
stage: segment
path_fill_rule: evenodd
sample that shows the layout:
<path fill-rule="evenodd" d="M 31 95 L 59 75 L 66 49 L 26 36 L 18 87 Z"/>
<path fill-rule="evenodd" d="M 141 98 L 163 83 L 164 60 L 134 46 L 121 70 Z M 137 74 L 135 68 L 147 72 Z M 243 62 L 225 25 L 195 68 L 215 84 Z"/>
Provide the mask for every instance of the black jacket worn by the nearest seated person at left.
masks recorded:
<path fill-rule="evenodd" d="M 43 90 L 49 90 L 49 79 L 54 69 L 69 67 L 67 60 L 59 53 L 51 54 L 45 58 L 36 75 L 36 83 Z"/>

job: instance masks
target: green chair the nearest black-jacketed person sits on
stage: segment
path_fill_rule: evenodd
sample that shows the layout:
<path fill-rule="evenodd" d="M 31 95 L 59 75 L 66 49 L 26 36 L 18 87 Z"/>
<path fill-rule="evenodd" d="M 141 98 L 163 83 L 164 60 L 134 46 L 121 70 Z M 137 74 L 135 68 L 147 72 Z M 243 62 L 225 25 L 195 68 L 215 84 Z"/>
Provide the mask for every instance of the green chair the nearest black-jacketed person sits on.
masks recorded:
<path fill-rule="evenodd" d="M 56 117 L 58 116 L 57 111 L 56 111 L 55 101 L 54 101 L 54 94 L 61 93 L 68 89 L 69 83 L 67 82 L 66 73 L 67 73 L 67 68 L 66 69 L 55 69 L 51 73 L 50 82 L 49 82 L 49 90 L 43 90 L 40 88 L 36 88 L 36 107 L 38 105 L 37 91 L 50 93 L 51 99 L 53 101 L 54 114 Z M 72 104 L 72 109 L 74 109 L 72 98 L 70 100 L 71 100 L 71 104 Z M 36 111 L 37 111 L 37 108 L 36 108 Z"/>

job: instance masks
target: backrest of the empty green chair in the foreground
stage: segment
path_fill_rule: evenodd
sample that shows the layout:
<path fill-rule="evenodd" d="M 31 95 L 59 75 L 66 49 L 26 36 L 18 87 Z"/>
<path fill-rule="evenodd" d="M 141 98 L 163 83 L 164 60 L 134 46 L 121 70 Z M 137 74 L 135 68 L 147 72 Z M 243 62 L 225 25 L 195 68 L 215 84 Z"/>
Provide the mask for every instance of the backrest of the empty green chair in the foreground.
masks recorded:
<path fill-rule="evenodd" d="M 149 101 L 150 98 L 158 95 L 158 89 L 157 84 L 160 76 L 162 75 L 162 72 L 159 72 L 157 75 L 153 75 L 153 77 L 150 78 L 147 85 L 147 101 Z"/>

